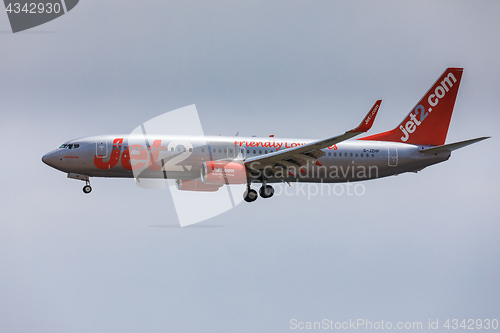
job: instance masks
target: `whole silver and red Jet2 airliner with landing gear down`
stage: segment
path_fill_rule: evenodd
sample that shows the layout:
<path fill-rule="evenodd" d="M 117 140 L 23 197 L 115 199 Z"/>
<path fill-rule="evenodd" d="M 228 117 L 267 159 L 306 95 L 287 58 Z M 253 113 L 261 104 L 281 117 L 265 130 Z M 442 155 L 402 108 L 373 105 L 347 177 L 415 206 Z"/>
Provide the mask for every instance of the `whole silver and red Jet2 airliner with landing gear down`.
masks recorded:
<path fill-rule="evenodd" d="M 246 184 L 243 198 L 270 198 L 273 183 L 340 183 L 418 172 L 448 160 L 451 152 L 488 139 L 445 144 L 463 68 L 447 68 L 394 129 L 354 138 L 373 125 L 376 101 L 363 121 L 324 140 L 240 136 L 101 135 L 70 140 L 42 157 L 68 178 L 175 179 L 178 190 L 214 192 Z"/>

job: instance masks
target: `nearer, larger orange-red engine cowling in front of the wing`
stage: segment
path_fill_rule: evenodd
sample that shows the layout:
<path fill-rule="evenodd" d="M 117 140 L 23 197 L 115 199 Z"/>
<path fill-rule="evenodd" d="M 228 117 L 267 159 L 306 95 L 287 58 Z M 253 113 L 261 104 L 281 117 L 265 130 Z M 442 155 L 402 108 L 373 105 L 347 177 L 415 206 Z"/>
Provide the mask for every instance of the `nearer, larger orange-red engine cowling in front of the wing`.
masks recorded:
<path fill-rule="evenodd" d="M 245 184 L 247 169 L 243 164 L 235 162 L 205 162 L 201 167 L 201 180 L 205 184 Z"/>

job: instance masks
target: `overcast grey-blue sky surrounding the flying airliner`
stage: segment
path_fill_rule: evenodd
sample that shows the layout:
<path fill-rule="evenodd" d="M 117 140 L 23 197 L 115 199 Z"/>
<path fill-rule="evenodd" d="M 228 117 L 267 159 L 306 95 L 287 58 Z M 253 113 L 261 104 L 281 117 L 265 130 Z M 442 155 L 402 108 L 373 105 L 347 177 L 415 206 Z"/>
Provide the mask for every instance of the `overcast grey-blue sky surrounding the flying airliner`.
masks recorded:
<path fill-rule="evenodd" d="M 282 332 L 290 320 L 500 319 L 498 1 L 96 1 L 0 14 L 1 332 Z M 395 127 L 463 67 L 447 142 L 363 196 L 278 196 L 197 228 L 170 194 L 41 156 L 196 104 L 206 134 Z M 195 205 L 194 205 L 195 206 Z"/>

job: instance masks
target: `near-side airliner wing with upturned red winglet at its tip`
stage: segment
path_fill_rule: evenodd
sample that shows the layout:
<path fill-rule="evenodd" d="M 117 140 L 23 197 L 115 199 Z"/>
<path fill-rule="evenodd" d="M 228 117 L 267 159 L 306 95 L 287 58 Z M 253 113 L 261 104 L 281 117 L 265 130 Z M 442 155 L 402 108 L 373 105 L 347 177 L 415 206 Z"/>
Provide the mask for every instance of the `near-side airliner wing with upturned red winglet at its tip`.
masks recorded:
<path fill-rule="evenodd" d="M 251 171 L 263 170 L 266 167 L 274 166 L 276 164 L 284 167 L 298 168 L 308 162 L 319 163 L 316 159 L 325 154 L 321 151 L 321 149 L 325 149 L 368 131 L 373 125 L 375 116 L 380 108 L 380 103 L 382 103 L 382 100 L 375 102 L 358 127 L 347 131 L 342 135 L 311 142 L 296 148 L 284 149 L 274 153 L 252 157 L 245 161 L 245 166 Z"/>

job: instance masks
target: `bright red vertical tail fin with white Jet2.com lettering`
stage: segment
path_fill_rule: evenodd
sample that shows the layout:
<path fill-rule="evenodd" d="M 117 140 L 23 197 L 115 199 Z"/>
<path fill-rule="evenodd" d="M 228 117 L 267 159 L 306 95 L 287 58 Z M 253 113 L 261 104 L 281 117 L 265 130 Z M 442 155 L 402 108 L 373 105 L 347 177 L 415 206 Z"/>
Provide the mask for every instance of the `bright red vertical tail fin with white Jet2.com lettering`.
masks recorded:
<path fill-rule="evenodd" d="M 450 126 L 462 72 L 463 68 L 448 68 L 398 127 L 359 140 L 443 145 Z"/>

